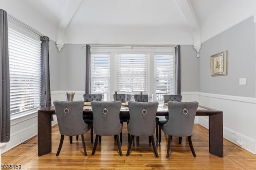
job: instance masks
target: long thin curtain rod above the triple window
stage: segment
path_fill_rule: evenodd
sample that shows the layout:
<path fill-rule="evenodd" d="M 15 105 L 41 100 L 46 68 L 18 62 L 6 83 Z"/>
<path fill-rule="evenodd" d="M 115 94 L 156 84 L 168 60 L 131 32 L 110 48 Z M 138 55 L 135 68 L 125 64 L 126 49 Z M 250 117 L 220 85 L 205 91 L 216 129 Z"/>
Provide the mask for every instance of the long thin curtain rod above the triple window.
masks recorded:
<path fill-rule="evenodd" d="M 124 44 L 111 44 L 111 45 L 104 45 L 104 44 L 89 44 L 91 47 L 176 47 L 177 45 L 124 45 Z M 82 46 L 83 48 L 86 45 Z"/>

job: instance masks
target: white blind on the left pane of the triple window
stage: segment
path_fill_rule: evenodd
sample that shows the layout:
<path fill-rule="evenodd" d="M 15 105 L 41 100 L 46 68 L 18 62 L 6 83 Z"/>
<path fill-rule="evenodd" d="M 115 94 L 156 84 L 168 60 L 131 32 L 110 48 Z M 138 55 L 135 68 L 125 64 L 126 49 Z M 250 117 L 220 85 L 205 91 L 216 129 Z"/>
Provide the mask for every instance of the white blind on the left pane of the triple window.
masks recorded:
<path fill-rule="evenodd" d="M 91 93 L 110 101 L 110 54 L 91 54 Z"/>

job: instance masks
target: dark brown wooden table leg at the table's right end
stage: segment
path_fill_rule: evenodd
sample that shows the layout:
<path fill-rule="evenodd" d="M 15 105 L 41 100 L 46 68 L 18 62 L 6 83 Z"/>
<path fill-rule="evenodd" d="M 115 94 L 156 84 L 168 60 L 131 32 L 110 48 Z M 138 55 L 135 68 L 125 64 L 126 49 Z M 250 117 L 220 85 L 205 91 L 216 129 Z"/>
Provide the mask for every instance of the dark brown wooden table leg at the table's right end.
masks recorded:
<path fill-rule="evenodd" d="M 222 112 L 209 116 L 209 152 L 223 157 Z"/>

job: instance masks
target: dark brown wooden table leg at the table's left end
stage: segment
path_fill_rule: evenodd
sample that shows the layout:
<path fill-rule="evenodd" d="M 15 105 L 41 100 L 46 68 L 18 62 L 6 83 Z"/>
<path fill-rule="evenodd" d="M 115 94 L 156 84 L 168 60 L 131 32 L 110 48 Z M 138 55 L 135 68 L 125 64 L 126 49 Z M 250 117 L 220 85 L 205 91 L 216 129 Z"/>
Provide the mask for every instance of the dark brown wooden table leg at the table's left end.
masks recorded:
<path fill-rule="evenodd" d="M 38 111 L 38 156 L 52 151 L 51 114 Z"/>

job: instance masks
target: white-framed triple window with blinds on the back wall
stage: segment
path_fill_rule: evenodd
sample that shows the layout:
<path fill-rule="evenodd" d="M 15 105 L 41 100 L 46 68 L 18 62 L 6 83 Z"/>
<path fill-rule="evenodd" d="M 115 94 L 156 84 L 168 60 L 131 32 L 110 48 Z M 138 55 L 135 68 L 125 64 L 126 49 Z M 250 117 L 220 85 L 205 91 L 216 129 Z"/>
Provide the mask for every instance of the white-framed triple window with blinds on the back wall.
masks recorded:
<path fill-rule="evenodd" d="M 174 47 L 94 46 L 91 54 L 91 93 L 108 93 L 107 100 L 113 100 L 115 91 L 142 91 L 153 94 L 156 101 L 174 94 Z M 101 57 L 99 64 L 96 56 Z"/>

